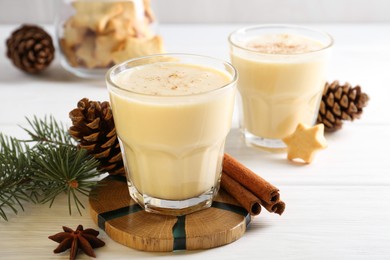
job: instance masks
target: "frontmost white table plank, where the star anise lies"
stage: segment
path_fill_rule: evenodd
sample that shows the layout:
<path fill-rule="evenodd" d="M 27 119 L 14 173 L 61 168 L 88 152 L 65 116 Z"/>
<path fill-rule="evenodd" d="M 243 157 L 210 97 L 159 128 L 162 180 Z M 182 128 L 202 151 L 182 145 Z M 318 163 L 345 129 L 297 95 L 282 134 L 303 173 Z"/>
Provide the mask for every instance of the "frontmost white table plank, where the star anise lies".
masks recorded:
<path fill-rule="evenodd" d="M 123 246 L 101 231 L 106 246 L 98 259 L 388 259 L 390 256 L 390 189 L 388 186 L 279 186 L 287 204 L 283 215 L 265 210 L 245 235 L 223 247 L 170 253 L 150 253 Z M 83 200 L 86 205 L 88 202 Z M 25 212 L 0 223 L 0 259 L 68 259 L 54 255 L 56 243 L 47 236 L 62 225 L 98 229 L 87 211 L 68 216 L 66 197 L 48 205 L 28 205 Z M 242 257 L 242 258 L 241 258 Z M 89 259 L 80 254 L 80 259 Z"/>

